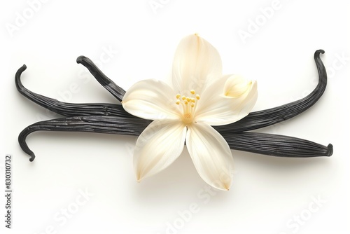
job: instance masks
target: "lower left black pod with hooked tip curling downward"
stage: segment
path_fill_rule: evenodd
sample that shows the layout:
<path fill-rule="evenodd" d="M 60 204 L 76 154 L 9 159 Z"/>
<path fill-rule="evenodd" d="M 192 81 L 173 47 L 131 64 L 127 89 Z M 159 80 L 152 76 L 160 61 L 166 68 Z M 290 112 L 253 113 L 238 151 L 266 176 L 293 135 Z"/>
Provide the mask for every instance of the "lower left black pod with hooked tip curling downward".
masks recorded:
<path fill-rule="evenodd" d="M 68 118 L 56 118 L 50 121 L 40 121 L 29 125 L 20 132 L 18 142 L 25 153 L 29 154 L 31 162 L 35 154 L 27 145 L 29 134 L 36 131 L 61 131 L 61 132 L 99 132 L 117 135 L 140 135 L 151 123 L 142 118 L 123 118 L 116 116 L 74 116 Z"/>

